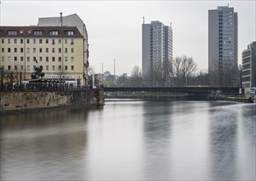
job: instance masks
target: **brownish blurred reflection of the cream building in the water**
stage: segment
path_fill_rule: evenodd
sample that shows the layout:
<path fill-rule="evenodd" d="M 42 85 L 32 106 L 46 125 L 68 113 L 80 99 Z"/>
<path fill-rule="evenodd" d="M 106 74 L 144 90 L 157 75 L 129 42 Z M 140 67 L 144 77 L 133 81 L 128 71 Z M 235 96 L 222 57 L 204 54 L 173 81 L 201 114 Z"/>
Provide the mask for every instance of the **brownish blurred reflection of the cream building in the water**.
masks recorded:
<path fill-rule="evenodd" d="M 87 111 L 44 110 L 1 117 L 1 179 L 86 178 Z"/>

